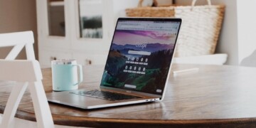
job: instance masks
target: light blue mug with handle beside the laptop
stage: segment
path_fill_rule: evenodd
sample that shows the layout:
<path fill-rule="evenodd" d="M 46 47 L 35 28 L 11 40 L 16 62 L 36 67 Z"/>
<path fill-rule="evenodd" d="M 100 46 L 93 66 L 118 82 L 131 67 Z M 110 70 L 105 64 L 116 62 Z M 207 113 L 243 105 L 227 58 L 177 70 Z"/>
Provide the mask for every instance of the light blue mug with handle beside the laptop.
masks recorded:
<path fill-rule="evenodd" d="M 82 82 L 82 65 L 78 65 L 76 60 L 52 60 L 51 67 L 53 91 L 78 89 L 78 84 Z M 80 78 L 80 80 L 78 80 L 78 78 Z"/>

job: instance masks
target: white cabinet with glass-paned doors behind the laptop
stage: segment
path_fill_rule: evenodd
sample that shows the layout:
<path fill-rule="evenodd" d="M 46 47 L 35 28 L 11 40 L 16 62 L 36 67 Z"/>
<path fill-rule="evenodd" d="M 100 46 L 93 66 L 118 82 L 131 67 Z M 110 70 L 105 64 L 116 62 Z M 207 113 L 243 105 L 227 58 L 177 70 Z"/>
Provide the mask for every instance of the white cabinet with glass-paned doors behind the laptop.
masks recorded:
<path fill-rule="evenodd" d="M 68 58 L 83 65 L 104 65 L 117 18 L 138 1 L 36 0 L 41 66 L 47 68 L 50 60 Z M 96 20 L 90 22 L 90 18 Z M 102 24 L 97 23 L 99 18 Z"/>

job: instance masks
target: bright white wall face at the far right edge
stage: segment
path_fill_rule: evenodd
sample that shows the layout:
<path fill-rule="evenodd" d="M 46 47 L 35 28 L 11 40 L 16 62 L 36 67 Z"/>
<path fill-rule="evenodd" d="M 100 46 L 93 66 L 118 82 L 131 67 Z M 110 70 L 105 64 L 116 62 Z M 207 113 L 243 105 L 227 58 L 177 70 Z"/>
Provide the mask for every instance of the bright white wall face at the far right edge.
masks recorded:
<path fill-rule="evenodd" d="M 237 0 L 238 5 L 238 62 L 256 50 L 256 1 Z M 256 62 L 256 58 L 254 58 Z"/>

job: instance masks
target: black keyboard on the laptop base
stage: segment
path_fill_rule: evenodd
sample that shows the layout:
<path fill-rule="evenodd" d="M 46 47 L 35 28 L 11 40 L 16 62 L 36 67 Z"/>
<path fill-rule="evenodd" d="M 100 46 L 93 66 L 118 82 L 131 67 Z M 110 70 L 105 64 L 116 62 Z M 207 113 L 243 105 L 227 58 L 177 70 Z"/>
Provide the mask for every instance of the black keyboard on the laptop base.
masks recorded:
<path fill-rule="evenodd" d="M 111 100 L 111 101 L 131 100 L 131 99 L 141 98 L 134 95 L 124 95 L 121 93 L 108 92 L 108 91 L 102 91 L 102 90 L 76 91 L 76 92 L 70 92 L 70 93 L 73 93 L 76 95 L 85 95 L 88 97 L 100 98 L 104 100 Z"/>

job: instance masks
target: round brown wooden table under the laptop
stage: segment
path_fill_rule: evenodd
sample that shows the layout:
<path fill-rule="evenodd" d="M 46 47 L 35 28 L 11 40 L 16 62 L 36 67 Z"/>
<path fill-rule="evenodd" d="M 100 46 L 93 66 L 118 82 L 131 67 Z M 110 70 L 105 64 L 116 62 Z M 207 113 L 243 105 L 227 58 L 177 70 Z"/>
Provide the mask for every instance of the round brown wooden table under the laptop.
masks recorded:
<path fill-rule="evenodd" d="M 55 124 L 79 127 L 256 127 L 256 68 L 229 65 L 174 65 L 198 72 L 171 75 L 163 102 L 79 110 L 50 103 Z M 102 66 L 84 68 L 80 87 L 100 84 Z M 50 69 L 43 69 L 46 92 L 52 91 Z M 10 84 L 11 85 L 11 84 Z M 1 89 L 0 112 L 9 92 Z M 35 121 L 28 94 L 16 117 Z"/>

